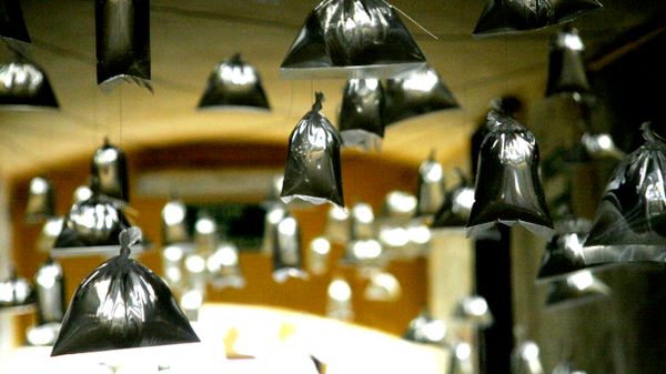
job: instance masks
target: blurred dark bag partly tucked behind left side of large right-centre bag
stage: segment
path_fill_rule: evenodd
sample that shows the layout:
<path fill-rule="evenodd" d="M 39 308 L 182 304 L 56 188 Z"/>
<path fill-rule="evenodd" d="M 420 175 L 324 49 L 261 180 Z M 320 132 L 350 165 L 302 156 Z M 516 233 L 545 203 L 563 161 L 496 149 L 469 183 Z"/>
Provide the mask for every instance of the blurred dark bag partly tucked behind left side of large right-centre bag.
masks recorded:
<path fill-rule="evenodd" d="M 433 231 L 462 229 L 470 220 L 472 205 L 474 205 L 474 185 L 460 170 L 458 175 L 458 184 L 446 193 L 444 203 L 433 219 L 431 224 Z"/>

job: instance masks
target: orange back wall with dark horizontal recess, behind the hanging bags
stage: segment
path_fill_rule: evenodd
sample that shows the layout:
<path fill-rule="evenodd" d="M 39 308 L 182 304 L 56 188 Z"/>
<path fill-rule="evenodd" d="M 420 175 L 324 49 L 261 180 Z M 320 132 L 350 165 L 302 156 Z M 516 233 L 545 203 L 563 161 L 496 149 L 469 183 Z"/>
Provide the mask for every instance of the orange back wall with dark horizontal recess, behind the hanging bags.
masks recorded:
<path fill-rule="evenodd" d="M 198 143 L 179 144 L 164 148 L 143 148 L 128 151 L 130 163 L 130 183 L 144 171 L 169 170 L 179 168 L 225 169 L 245 166 L 276 166 L 284 163 L 286 149 L 272 144 L 231 144 L 231 143 Z M 83 184 L 89 173 L 89 159 L 81 159 L 46 170 L 43 175 L 49 178 L 56 188 L 57 211 L 63 215 L 70 206 L 73 190 Z M 343 152 L 343 183 L 345 202 L 351 206 L 354 202 L 364 201 L 380 211 L 384 195 L 392 190 L 414 191 L 416 186 L 416 168 L 390 161 L 380 155 L 357 152 Z M 27 188 L 30 178 L 17 178 L 11 183 L 11 212 L 13 221 L 13 253 L 19 274 L 32 276 L 46 254 L 37 253 L 36 240 L 40 226 L 23 223 L 23 212 Z M 137 224 L 144 234 L 159 242 L 160 212 L 167 202 L 163 198 L 137 196 L 130 192 L 131 204 L 140 212 Z M 296 211 L 301 223 L 303 245 L 323 232 L 327 206 L 315 206 L 310 210 Z M 332 271 L 322 276 L 311 276 L 307 281 L 290 280 L 285 284 L 276 284 L 271 277 L 271 261 L 262 254 L 249 253 L 241 255 L 241 265 L 246 279 L 242 290 L 211 290 L 210 299 L 214 301 L 238 302 L 282 306 L 323 315 L 326 304 L 326 287 L 332 275 L 343 274 L 354 292 L 354 322 L 376 327 L 382 331 L 402 334 L 408 321 L 426 304 L 427 282 L 425 261 L 394 262 L 389 270 L 398 279 L 403 294 L 397 302 L 381 303 L 363 299 L 365 282 L 356 276 L 353 269 L 336 266 L 343 249 L 334 246 L 332 253 Z M 141 255 L 140 261 L 158 273 L 161 271 L 159 251 Z M 61 263 L 68 280 L 68 297 L 79 282 L 97 265 L 102 257 L 63 259 Z M 20 328 L 31 323 L 30 317 L 23 317 Z M 22 334 L 22 332 L 20 333 Z"/>

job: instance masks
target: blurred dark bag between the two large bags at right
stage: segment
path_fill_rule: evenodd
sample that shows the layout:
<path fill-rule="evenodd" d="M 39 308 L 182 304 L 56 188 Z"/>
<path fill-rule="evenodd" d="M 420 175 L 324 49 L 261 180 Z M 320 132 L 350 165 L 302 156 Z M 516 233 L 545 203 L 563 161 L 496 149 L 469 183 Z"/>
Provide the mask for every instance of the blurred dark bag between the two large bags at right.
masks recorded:
<path fill-rule="evenodd" d="M 555 235 L 546 244 L 537 281 L 566 276 L 585 267 L 583 243 L 592 222 L 585 219 L 567 218 L 556 224 Z"/>

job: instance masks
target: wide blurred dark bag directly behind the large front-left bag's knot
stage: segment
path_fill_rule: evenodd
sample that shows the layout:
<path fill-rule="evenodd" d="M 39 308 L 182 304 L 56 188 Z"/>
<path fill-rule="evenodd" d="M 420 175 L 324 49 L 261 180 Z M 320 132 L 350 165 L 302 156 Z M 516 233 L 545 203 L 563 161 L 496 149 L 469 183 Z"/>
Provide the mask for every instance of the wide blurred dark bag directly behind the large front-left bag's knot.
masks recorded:
<path fill-rule="evenodd" d="M 93 194 L 89 200 L 75 203 L 67 214 L 51 255 L 114 253 L 119 245 L 118 235 L 128 228 L 130 222 L 117 200 Z M 145 245 L 145 242 L 137 245 L 135 250 L 141 251 Z"/>

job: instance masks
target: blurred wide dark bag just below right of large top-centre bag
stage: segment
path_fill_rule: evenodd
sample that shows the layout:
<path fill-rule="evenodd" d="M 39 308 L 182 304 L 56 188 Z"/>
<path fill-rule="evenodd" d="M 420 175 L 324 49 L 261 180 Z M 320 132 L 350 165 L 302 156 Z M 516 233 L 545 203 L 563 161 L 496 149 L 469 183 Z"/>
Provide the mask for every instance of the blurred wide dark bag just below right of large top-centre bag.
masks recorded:
<path fill-rule="evenodd" d="M 461 105 L 442 77 L 423 67 L 386 80 L 386 125 Z"/>

